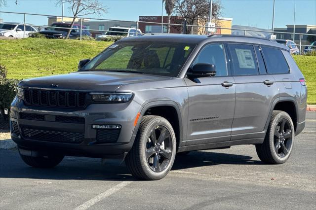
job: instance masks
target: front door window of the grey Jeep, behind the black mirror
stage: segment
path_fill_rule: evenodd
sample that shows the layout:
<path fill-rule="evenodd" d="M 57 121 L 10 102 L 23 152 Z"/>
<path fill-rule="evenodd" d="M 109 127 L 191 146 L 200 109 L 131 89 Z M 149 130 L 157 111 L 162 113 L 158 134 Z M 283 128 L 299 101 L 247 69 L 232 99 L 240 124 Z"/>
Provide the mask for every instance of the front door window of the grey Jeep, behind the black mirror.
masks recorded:
<path fill-rule="evenodd" d="M 205 46 L 197 55 L 193 65 L 200 63 L 215 65 L 215 76 L 227 76 L 224 45 L 210 44 Z"/>

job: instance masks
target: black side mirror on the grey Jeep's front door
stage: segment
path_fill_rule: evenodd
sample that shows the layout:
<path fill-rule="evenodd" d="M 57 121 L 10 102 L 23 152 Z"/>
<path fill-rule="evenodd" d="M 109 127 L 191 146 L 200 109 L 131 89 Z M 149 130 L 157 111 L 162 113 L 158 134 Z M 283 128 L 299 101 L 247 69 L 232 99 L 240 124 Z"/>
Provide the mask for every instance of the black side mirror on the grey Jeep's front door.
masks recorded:
<path fill-rule="evenodd" d="M 187 72 L 187 76 L 195 78 L 215 76 L 215 74 L 216 70 L 213 64 L 195 64 L 191 70 Z"/>

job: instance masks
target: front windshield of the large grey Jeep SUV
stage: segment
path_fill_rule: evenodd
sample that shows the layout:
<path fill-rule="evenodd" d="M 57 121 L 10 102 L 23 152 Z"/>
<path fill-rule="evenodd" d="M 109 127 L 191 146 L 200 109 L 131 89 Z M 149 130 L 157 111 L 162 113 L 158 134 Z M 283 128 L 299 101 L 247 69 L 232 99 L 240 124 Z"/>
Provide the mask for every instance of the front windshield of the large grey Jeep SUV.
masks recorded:
<path fill-rule="evenodd" d="M 176 77 L 196 44 L 129 41 L 118 42 L 81 70 L 121 71 Z"/>

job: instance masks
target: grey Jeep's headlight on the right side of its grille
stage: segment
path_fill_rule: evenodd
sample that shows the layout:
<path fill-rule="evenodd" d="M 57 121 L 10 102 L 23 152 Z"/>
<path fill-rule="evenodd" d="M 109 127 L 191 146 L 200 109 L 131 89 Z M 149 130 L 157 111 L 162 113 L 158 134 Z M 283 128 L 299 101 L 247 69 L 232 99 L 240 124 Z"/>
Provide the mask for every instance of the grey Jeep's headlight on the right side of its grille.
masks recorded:
<path fill-rule="evenodd" d="M 125 103 L 128 102 L 133 93 L 90 93 L 95 102 L 105 103 Z"/>

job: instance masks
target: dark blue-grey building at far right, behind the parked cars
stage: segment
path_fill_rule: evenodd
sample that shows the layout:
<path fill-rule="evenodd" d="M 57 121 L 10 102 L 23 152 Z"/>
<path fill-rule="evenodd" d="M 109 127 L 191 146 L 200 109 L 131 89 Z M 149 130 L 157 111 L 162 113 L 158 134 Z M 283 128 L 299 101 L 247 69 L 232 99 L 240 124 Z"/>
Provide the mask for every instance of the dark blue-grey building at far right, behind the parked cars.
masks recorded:
<path fill-rule="evenodd" d="M 275 28 L 275 32 L 286 32 L 293 33 L 294 25 L 286 25 L 286 28 Z M 316 25 L 295 25 L 295 33 L 299 34 L 312 34 L 316 35 Z M 290 39 L 293 40 L 293 34 L 276 34 L 276 38 L 278 39 Z M 311 42 L 308 41 L 309 35 L 302 35 L 302 44 L 310 45 Z M 295 35 L 294 39 L 296 44 L 300 44 L 300 35 Z M 304 49 L 304 47 L 302 47 Z M 302 49 L 301 49 L 302 50 Z"/>

